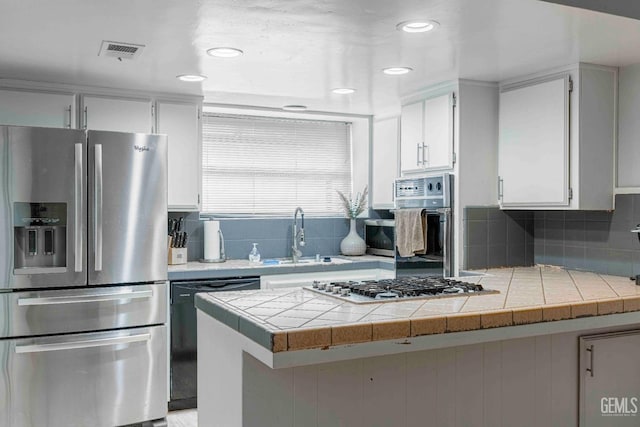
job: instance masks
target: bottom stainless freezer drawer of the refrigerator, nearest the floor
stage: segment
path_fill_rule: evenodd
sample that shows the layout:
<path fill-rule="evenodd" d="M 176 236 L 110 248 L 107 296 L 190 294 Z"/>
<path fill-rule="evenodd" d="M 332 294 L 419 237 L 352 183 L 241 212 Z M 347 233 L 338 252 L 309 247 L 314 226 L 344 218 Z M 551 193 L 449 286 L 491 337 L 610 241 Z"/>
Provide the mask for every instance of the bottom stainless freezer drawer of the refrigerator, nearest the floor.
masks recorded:
<path fill-rule="evenodd" d="M 166 327 L 0 340 L 0 427 L 113 427 L 167 414 Z"/>

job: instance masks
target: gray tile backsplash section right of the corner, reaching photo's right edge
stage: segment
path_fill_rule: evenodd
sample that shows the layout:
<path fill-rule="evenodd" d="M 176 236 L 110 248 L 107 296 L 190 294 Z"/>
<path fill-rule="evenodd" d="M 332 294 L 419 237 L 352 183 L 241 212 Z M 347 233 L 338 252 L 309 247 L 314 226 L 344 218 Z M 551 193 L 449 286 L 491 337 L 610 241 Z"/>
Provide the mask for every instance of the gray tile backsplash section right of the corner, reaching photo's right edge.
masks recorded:
<path fill-rule="evenodd" d="M 640 274 L 640 195 L 619 194 L 608 211 L 536 211 L 535 262 L 577 270 Z"/>

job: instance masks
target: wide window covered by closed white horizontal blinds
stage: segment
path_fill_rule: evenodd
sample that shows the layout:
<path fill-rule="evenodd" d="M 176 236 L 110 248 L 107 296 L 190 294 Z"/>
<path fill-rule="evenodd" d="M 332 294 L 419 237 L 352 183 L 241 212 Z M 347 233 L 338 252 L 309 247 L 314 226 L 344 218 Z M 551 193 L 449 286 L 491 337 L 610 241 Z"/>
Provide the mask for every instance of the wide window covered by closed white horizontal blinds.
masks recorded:
<path fill-rule="evenodd" d="M 349 123 L 211 113 L 202 123 L 204 213 L 342 215 Z"/>

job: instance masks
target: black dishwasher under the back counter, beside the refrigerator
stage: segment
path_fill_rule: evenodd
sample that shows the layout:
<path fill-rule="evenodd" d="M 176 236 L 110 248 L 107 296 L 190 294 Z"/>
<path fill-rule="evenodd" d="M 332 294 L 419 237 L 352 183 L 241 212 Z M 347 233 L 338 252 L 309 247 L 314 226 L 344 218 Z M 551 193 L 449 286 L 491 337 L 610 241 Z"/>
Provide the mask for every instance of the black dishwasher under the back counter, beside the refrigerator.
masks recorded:
<path fill-rule="evenodd" d="M 197 404 L 198 333 L 195 294 L 249 289 L 260 289 L 259 277 L 171 282 L 170 410 L 195 408 Z"/>

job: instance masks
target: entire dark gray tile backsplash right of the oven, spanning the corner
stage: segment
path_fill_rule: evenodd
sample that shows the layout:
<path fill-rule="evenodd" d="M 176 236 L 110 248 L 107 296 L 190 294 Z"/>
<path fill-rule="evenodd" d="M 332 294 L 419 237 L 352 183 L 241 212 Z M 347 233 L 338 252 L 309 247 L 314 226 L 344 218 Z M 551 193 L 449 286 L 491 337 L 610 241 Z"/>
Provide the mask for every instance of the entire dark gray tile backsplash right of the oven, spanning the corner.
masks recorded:
<path fill-rule="evenodd" d="M 640 195 L 608 211 L 464 209 L 464 268 L 557 265 L 618 276 L 640 274 Z"/>

